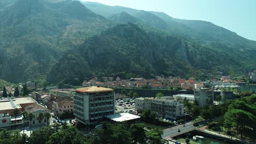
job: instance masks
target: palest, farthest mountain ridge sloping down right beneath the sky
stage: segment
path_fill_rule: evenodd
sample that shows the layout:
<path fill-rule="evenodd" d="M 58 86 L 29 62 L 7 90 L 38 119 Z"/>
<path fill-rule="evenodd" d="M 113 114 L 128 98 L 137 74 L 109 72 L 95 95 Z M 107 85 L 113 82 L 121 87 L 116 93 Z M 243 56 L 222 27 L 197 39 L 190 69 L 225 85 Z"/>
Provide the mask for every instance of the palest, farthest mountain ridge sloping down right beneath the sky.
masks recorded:
<path fill-rule="evenodd" d="M 83 2 L 89 9 L 105 17 L 126 12 L 138 21 L 132 22 L 148 32 L 160 32 L 195 41 L 213 51 L 226 53 L 225 57 L 235 57 L 248 70 L 256 69 L 255 62 L 256 41 L 248 40 L 223 27 L 211 22 L 199 20 L 181 20 L 155 11 L 143 11 L 120 6 L 108 6 L 94 2 Z M 112 19 L 110 19 L 112 20 Z"/>

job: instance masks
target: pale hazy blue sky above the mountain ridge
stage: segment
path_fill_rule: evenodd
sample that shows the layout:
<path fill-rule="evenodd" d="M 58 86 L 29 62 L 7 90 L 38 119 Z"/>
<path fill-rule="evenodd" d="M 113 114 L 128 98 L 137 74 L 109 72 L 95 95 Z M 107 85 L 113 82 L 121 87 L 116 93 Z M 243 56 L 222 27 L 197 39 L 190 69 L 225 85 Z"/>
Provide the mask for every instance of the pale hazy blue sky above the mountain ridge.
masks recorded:
<path fill-rule="evenodd" d="M 82 0 L 88 1 L 88 0 Z M 210 21 L 247 39 L 256 40 L 256 0 L 89 0 L 141 10 L 162 11 L 172 17 Z"/>

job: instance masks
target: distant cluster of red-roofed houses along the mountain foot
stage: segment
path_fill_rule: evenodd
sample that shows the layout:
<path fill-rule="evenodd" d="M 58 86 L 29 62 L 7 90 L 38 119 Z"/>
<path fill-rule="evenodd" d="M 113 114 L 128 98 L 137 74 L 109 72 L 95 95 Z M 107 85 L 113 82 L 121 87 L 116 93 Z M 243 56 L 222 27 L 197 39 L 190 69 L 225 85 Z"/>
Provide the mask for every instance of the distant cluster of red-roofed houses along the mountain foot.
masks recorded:
<path fill-rule="evenodd" d="M 256 76 L 252 74 L 256 80 Z M 194 77 L 181 79 L 179 77 L 156 76 L 155 79 L 144 79 L 143 77 L 131 78 L 129 80 L 121 80 L 117 77 L 114 81 L 113 77 L 95 78 L 83 82 L 83 87 L 101 86 L 110 88 L 151 88 L 151 89 L 184 89 L 192 90 L 204 87 L 235 87 L 238 83 L 245 83 L 241 80 L 232 80 L 230 76 L 219 76 L 219 79 L 196 80 Z"/>

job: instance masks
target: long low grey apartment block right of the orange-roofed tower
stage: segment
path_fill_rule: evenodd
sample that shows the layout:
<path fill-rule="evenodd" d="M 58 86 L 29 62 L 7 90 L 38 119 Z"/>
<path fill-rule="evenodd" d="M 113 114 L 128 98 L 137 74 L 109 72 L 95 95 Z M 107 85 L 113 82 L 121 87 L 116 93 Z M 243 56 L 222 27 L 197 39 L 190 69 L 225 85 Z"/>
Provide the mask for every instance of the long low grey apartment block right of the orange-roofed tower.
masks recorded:
<path fill-rule="evenodd" d="M 138 112 L 150 110 L 160 117 L 176 119 L 184 115 L 184 105 L 171 97 L 137 98 L 135 108 Z"/>

